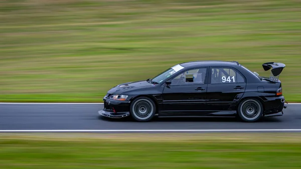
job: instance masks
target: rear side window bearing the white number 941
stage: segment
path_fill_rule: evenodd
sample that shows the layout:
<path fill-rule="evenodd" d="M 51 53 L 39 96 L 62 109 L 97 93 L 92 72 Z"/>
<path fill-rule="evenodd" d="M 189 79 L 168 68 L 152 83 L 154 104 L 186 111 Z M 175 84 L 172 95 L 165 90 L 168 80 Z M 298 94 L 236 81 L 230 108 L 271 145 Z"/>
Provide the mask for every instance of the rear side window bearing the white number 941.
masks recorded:
<path fill-rule="evenodd" d="M 235 69 L 212 68 L 211 84 L 244 83 L 244 78 Z"/>

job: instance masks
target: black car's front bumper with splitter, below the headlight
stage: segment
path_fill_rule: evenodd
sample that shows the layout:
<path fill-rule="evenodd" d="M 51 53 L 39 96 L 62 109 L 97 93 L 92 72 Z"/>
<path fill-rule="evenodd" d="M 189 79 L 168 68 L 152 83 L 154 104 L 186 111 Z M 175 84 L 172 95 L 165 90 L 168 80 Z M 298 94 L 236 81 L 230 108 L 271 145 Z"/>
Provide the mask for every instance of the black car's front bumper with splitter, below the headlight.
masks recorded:
<path fill-rule="evenodd" d="M 110 118 L 123 118 L 129 116 L 129 101 L 103 99 L 103 109 L 99 115 Z"/>

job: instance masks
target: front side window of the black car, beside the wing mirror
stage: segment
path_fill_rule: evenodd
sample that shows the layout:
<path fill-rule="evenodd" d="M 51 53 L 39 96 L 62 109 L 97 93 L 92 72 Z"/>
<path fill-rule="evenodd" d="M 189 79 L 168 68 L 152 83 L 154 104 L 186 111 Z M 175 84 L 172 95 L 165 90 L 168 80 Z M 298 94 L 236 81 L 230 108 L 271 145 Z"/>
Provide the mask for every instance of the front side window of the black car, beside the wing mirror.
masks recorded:
<path fill-rule="evenodd" d="M 204 84 L 206 72 L 207 68 L 185 71 L 172 79 L 171 85 Z"/>

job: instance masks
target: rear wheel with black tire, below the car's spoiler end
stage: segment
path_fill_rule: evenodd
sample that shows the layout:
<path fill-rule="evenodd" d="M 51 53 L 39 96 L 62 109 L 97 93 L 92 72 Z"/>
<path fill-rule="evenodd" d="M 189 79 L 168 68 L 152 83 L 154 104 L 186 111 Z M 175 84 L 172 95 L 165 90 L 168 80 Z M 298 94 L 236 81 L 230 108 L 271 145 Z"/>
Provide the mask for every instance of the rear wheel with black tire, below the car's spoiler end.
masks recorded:
<path fill-rule="evenodd" d="M 263 106 L 257 99 L 246 99 L 239 104 L 237 113 L 239 118 L 245 122 L 256 122 L 262 117 Z"/>

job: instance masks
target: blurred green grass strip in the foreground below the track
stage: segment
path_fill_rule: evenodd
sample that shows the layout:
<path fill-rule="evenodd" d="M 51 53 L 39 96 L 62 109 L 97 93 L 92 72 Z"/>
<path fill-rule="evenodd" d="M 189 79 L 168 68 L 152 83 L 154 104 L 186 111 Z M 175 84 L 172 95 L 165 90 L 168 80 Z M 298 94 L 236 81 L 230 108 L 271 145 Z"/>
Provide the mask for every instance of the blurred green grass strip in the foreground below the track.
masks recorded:
<path fill-rule="evenodd" d="M 3 135 L 0 168 L 300 168 L 300 134 Z"/>

